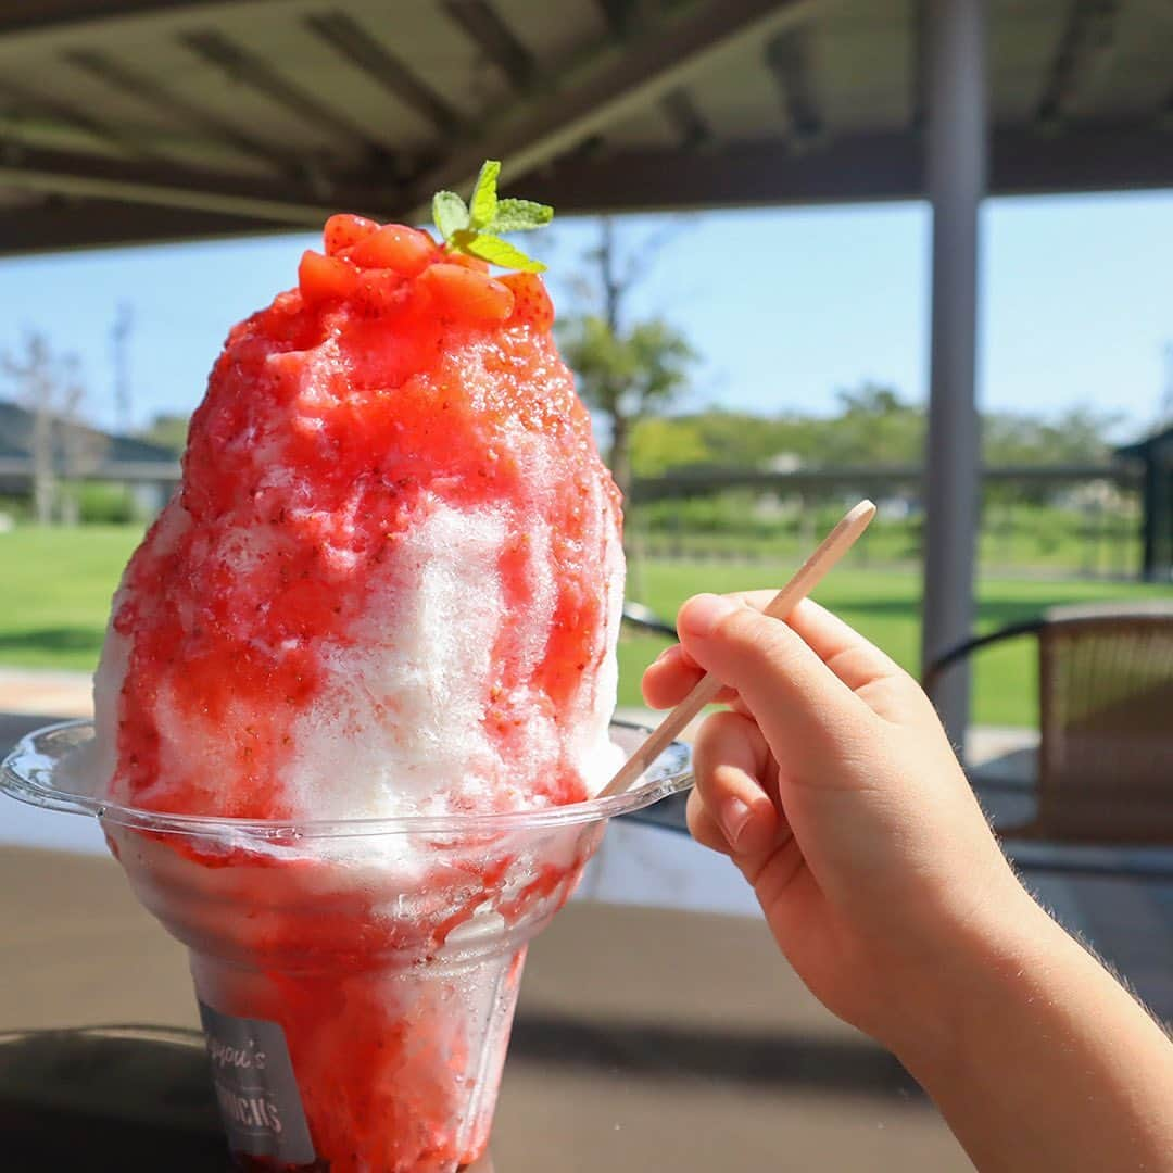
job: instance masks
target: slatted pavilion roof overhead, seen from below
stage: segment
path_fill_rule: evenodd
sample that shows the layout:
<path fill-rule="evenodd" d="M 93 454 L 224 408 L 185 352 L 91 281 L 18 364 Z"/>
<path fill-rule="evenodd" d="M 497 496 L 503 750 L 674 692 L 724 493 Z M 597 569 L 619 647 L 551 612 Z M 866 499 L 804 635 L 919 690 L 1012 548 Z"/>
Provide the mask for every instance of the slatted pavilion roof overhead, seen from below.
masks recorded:
<path fill-rule="evenodd" d="M 418 216 L 484 157 L 563 212 L 916 197 L 927 2 L 21 0 L 0 251 Z M 1166 0 L 990 13 L 991 191 L 1173 185 Z"/>

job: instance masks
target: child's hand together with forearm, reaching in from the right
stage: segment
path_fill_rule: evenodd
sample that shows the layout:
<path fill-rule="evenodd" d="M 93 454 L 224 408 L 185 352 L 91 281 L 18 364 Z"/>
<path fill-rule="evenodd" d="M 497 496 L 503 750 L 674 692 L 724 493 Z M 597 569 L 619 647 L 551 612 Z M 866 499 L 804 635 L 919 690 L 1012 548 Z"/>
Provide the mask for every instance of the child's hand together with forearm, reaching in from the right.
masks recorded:
<path fill-rule="evenodd" d="M 1173 1173 L 1168 1038 L 1019 886 L 916 683 L 813 603 L 761 615 L 769 597 L 691 599 L 644 677 L 656 706 L 701 669 L 727 686 L 697 740 L 693 835 L 983 1173 Z"/>

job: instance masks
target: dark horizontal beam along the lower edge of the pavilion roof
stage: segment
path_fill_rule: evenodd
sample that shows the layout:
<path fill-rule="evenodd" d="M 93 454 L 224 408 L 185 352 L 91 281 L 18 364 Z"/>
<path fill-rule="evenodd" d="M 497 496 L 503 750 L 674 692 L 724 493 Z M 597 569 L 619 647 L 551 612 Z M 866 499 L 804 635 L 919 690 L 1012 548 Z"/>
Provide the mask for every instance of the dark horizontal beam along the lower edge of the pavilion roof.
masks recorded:
<path fill-rule="evenodd" d="M 9 149 L 0 188 L 48 196 L 0 208 L 0 252 L 128 244 L 317 228 L 338 208 L 387 219 L 402 195 L 369 183 L 316 202 L 289 183 L 147 167 L 93 156 Z M 997 129 L 994 195 L 1052 195 L 1173 187 L 1173 131 L 1083 127 L 1053 135 Z M 785 140 L 713 148 L 698 165 L 678 149 L 578 151 L 534 171 L 526 195 L 560 212 L 684 211 L 698 208 L 866 203 L 924 197 L 918 134 L 836 138 L 805 154 Z"/>

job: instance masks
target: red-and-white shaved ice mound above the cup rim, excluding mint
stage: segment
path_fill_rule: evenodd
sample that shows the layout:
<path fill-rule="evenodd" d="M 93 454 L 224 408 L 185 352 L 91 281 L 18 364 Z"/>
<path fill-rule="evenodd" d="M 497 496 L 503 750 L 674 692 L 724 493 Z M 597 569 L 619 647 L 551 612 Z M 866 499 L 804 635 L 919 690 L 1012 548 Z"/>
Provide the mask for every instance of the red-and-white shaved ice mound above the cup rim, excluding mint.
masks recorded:
<path fill-rule="evenodd" d="M 251 819 L 582 799 L 619 510 L 542 280 L 354 216 L 326 249 L 229 335 L 115 597 L 110 795 Z"/>

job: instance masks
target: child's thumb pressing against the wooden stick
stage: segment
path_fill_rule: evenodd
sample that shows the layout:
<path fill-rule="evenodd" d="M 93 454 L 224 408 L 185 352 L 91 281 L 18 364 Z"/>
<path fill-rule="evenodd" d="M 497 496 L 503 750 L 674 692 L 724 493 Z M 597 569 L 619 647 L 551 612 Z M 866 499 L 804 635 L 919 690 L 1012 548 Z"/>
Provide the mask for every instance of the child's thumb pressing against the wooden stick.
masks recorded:
<path fill-rule="evenodd" d="M 735 689 L 780 757 L 811 739 L 859 737 L 867 705 L 782 619 L 720 595 L 697 595 L 680 609 L 685 651 Z"/>

